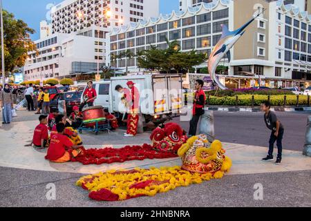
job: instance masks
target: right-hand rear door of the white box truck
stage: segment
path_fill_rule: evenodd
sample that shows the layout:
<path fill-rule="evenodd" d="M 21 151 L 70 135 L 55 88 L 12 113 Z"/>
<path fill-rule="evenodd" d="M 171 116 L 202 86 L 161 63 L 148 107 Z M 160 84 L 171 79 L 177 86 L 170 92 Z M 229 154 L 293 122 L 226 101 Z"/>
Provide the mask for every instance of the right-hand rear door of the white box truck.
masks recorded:
<path fill-rule="evenodd" d="M 167 77 L 169 85 L 169 109 L 173 113 L 178 113 L 183 107 L 182 102 L 182 76 L 172 75 Z"/>

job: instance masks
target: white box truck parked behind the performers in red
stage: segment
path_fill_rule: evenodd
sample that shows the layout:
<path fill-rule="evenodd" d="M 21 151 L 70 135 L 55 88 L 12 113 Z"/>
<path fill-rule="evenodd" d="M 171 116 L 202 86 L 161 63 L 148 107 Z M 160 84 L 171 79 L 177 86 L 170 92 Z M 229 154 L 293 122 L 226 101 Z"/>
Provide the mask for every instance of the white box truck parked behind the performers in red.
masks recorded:
<path fill-rule="evenodd" d="M 150 74 L 112 77 L 110 81 L 94 82 L 97 92 L 95 105 L 109 108 L 111 113 L 126 113 L 122 105 L 122 94 L 115 90 L 117 85 L 128 88 L 126 83 L 133 81 L 140 92 L 140 113 L 145 122 L 162 123 L 178 116 L 184 107 L 182 75 Z M 83 100 L 83 95 L 82 95 Z"/>

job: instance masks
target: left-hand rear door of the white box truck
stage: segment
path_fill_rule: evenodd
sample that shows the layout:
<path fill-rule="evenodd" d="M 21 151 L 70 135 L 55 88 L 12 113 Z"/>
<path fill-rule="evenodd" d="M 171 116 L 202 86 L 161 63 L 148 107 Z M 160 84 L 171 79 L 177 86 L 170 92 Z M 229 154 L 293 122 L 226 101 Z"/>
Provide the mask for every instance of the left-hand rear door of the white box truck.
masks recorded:
<path fill-rule="evenodd" d="M 169 93 L 167 88 L 167 77 L 153 77 L 153 98 L 155 115 L 169 113 Z"/>

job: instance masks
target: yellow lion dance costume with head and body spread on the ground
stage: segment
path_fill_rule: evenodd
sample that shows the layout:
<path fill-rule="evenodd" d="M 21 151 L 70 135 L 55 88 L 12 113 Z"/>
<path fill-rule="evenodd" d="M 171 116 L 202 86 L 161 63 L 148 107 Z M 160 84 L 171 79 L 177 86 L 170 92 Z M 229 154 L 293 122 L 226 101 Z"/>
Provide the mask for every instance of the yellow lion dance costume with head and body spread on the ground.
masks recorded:
<path fill-rule="evenodd" d="M 232 166 L 224 154 L 219 140 L 210 144 L 205 135 L 199 135 L 189 138 L 179 149 L 182 166 L 97 173 L 82 177 L 77 186 L 89 191 L 89 198 L 98 201 L 153 196 L 180 186 L 222 178 Z"/>

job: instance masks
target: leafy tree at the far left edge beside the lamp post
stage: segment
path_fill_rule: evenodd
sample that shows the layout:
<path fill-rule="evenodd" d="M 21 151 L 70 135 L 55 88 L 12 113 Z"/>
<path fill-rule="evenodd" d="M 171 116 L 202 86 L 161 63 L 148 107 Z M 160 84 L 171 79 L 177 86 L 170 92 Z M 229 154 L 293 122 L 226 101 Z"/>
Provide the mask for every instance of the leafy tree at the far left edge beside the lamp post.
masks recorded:
<path fill-rule="evenodd" d="M 3 29 L 5 68 L 6 72 L 12 72 L 15 67 L 24 66 L 28 52 L 35 50 L 35 44 L 30 39 L 35 30 L 6 10 L 3 10 Z"/>

